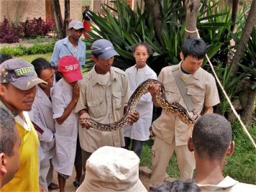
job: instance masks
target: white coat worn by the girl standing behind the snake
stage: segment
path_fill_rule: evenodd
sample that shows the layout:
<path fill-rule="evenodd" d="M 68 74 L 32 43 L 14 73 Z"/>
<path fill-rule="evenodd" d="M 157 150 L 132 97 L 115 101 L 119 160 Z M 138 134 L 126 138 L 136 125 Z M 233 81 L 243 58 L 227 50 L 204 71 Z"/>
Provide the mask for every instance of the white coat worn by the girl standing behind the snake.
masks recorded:
<path fill-rule="evenodd" d="M 125 70 L 125 74 L 128 77 L 129 86 L 132 93 L 141 83 L 147 79 L 157 79 L 156 73 L 154 70 L 148 67 L 148 65 L 138 69 L 135 66 L 136 65 Z M 153 113 L 153 102 L 150 93 L 142 95 L 140 101 L 137 104 L 136 111 L 140 113 L 140 118 L 138 122 L 134 123 L 132 126 L 127 125 L 124 127 L 124 136 L 134 140 L 148 140 L 150 136 L 148 129 L 152 123 Z"/>

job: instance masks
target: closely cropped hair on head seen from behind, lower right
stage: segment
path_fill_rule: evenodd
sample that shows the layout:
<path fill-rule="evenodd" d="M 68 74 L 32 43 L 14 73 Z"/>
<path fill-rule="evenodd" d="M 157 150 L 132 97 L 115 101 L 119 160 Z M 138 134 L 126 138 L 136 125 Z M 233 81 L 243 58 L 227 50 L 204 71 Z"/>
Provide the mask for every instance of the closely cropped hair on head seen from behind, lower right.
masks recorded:
<path fill-rule="evenodd" d="M 224 116 L 203 115 L 195 123 L 192 141 L 198 156 L 221 159 L 232 141 L 231 125 Z"/>

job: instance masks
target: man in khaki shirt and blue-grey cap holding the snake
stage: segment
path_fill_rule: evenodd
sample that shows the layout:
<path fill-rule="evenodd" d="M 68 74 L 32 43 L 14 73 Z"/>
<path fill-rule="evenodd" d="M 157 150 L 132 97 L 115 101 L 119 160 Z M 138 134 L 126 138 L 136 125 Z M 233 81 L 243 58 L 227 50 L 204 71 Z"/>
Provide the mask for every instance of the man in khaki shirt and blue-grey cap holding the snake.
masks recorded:
<path fill-rule="evenodd" d="M 124 116 L 124 109 L 129 100 L 129 84 L 124 71 L 111 67 L 114 56 L 118 55 L 111 42 L 100 39 L 92 44 L 92 59 L 95 66 L 79 82 L 80 96 L 75 113 L 79 118 L 93 118 L 97 122 L 110 124 Z M 129 114 L 131 123 L 138 120 L 137 112 Z M 84 129 L 86 127 L 87 129 Z M 79 140 L 82 148 L 83 166 L 90 155 L 100 147 L 124 147 L 123 130 L 104 132 L 88 129 L 81 123 Z"/>

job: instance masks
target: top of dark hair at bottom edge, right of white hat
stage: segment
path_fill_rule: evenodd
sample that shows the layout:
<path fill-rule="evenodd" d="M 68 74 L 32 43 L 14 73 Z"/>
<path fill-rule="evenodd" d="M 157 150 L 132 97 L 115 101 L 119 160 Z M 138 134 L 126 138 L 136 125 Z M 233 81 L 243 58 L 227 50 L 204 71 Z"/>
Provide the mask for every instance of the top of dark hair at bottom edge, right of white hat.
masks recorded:
<path fill-rule="evenodd" d="M 201 189 L 196 185 L 195 180 L 174 180 L 173 182 L 163 182 L 162 184 L 150 187 L 150 192 L 199 192 Z"/>

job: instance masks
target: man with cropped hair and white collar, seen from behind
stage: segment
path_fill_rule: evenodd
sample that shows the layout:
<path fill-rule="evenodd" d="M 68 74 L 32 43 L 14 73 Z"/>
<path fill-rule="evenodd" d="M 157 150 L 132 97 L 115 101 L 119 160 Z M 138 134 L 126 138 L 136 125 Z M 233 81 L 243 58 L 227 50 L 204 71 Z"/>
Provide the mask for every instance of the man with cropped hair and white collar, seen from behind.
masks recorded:
<path fill-rule="evenodd" d="M 232 129 L 224 116 L 203 115 L 196 121 L 188 148 L 195 153 L 195 180 L 202 191 L 256 191 L 255 185 L 223 176 L 225 157 L 232 156 L 234 147 Z"/>

